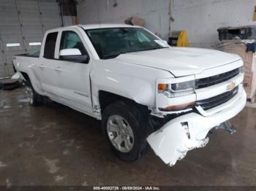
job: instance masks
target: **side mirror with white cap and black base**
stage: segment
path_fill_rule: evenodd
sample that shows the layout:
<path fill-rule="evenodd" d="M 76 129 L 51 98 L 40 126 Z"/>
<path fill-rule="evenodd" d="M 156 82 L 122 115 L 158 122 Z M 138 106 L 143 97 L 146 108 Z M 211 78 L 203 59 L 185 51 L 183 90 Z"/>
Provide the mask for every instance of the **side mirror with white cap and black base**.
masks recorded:
<path fill-rule="evenodd" d="M 82 55 L 80 50 L 77 48 L 68 48 L 59 51 L 59 58 L 62 61 L 89 63 L 89 55 Z"/>

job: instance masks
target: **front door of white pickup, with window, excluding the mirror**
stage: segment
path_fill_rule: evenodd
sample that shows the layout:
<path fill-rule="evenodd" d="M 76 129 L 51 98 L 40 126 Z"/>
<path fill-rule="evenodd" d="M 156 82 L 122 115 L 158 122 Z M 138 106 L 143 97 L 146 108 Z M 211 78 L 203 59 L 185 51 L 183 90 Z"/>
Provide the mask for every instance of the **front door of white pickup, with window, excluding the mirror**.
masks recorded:
<path fill-rule="evenodd" d="M 82 55 L 89 55 L 86 42 L 82 34 L 75 28 L 70 28 L 61 32 L 58 50 L 76 48 Z M 58 55 L 59 56 L 59 55 Z M 64 61 L 59 57 L 56 61 L 58 72 L 58 95 L 63 104 L 71 106 L 82 112 L 91 113 L 91 88 L 90 88 L 90 69 L 89 63 L 80 61 Z"/>

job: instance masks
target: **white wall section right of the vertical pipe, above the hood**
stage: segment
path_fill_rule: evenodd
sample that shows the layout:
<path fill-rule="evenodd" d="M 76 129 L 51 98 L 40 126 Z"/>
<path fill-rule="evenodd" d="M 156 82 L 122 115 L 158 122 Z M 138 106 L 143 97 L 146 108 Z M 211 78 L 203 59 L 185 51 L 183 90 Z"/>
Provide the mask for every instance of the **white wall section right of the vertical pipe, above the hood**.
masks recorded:
<path fill-rule="evenodd" d="M 255 0 L 173 0 L 172 31 L 187 31 L 192 47 L 211 47 L 219 42 L 217 28 L 255 25 Z"/>

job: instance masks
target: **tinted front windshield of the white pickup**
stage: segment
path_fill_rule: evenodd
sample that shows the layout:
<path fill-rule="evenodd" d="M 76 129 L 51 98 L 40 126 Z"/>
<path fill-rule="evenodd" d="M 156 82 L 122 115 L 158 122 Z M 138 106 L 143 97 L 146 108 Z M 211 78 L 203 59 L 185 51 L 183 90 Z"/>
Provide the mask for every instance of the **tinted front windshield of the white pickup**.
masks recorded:
<path fill-rule="evenodd" d="M 99 58 L 115 58 L 127 52 L 168 47 L 143 28 L 99 28 L 86 30 Z"/>

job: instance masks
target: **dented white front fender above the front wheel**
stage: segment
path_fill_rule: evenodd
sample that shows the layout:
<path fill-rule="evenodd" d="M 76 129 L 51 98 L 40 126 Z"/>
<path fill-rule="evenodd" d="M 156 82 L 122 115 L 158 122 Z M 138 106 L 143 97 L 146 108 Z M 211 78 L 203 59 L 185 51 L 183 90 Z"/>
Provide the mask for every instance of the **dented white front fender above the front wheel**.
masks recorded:
<path fill-rule="evenodd" d="M 99 90 L 104 90 L 144 106 L 155 106 L 156 80 L 159 77 L 171 76 L 167 71 L 146 66 L 115 61 L 95 63 L 90 75 L 93 102 L 99 104 Z"/>

